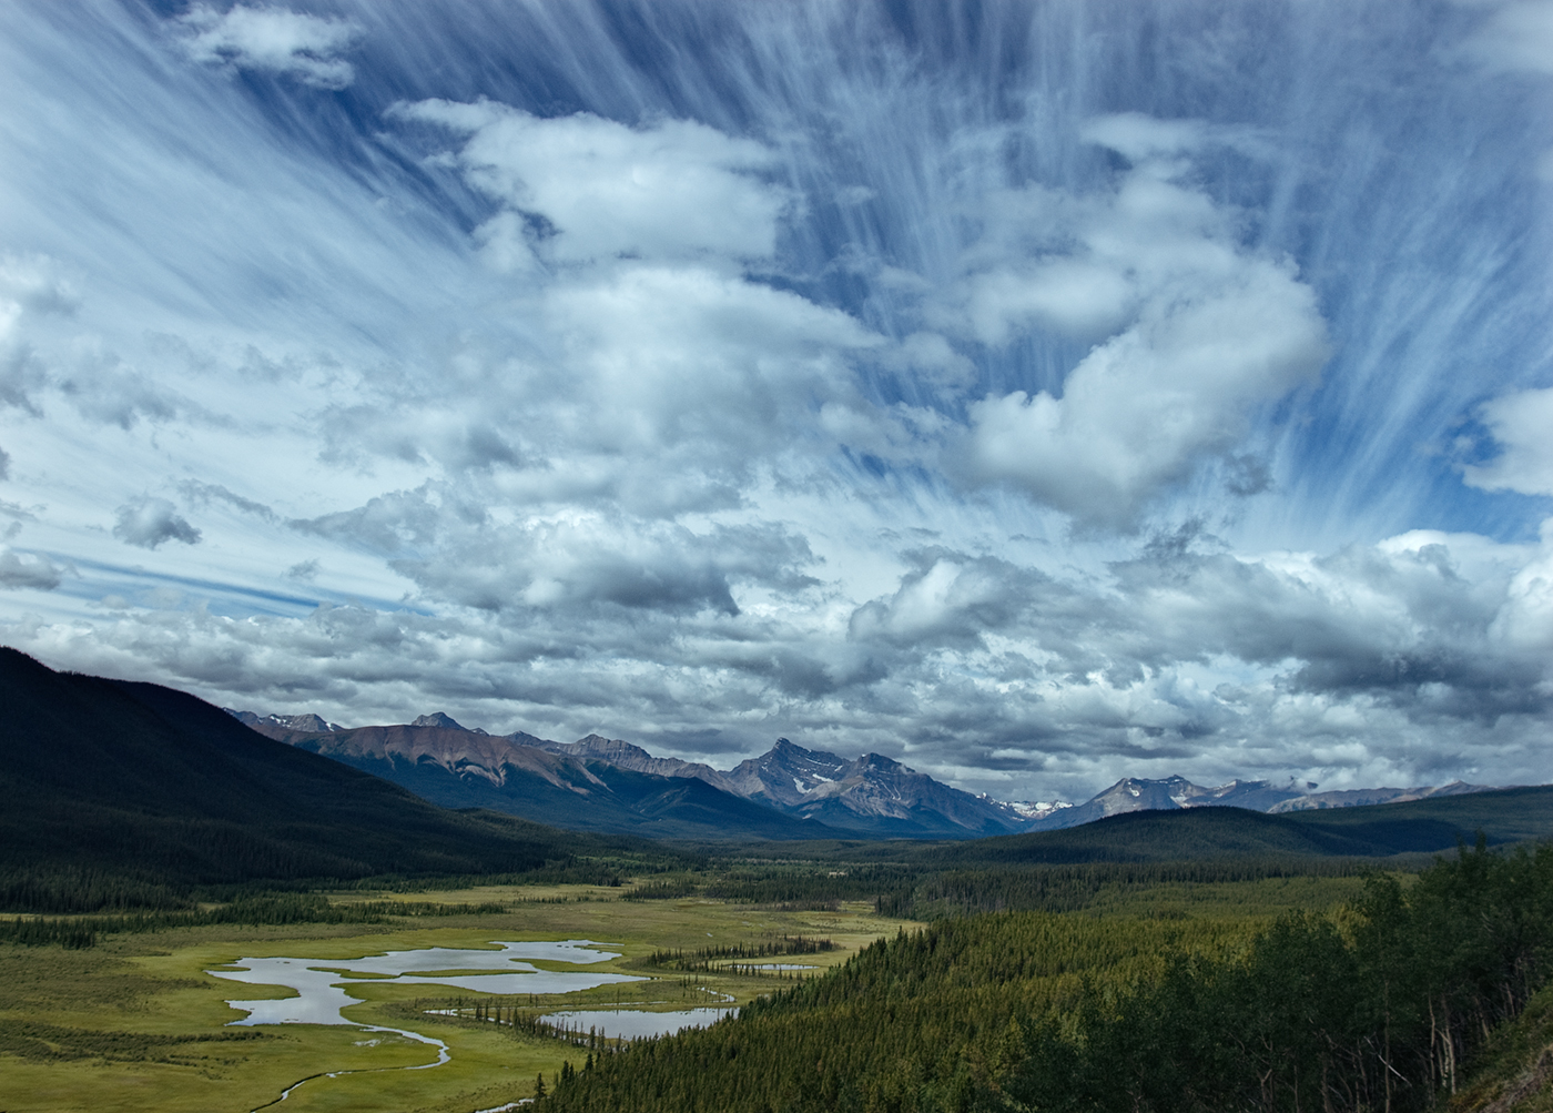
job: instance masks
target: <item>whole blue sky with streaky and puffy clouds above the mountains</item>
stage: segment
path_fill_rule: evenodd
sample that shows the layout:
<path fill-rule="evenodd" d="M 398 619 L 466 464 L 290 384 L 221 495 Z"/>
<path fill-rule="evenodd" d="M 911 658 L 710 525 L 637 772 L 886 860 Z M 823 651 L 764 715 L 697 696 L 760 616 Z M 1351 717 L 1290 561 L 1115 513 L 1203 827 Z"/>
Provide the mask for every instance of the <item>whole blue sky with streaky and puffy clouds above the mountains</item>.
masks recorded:
<path fill-rule="evenodd" d="M 0 642 L 1000 799 L 1553 780 L 1553 2 L 0 5 Z"/>

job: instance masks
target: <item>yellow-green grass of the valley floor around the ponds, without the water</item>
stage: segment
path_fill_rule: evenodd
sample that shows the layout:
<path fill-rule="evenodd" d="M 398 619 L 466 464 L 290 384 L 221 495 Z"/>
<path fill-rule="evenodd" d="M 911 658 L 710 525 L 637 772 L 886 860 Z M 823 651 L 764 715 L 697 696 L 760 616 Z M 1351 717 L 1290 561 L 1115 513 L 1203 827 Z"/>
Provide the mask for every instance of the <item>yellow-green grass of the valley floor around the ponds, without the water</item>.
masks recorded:
<path fill-rule="evenodd" d="M 334 894 L 345 898 L 346 894 Z M 536 995 L 533 1010 L 634 1004 L 686 1009 L 724 995 L 747 1001 L 784 984 L 770 975 L 643 968 L 655 950 L 749 944 L 781 934 L 823 936 L 839 948 L 804 954 L 804 965 L 829 967 L 902 922 L 863 905 L 842 911 L 789 912 L 711 900 L 621 902 L 621 889 L 553 886 L 547 891 L 486 886 L 413 894 L 404 900 L 500 902 L 505 914 L 416 917 L 384 925 L 231 925 L 109 936 L 96 948 L 0 945 L 0 1094 L 8 1113 L 245 1113 L 307 1076 L 287 1101 L 289 1113 L 394 1110 L 471 1113 L 528 1096 L 534 1076 L 559 1071 L 582 1051 L 558 1040 L 514 1034 L 508 1026 L 427 1010 L 497 1000 L 458 989 L 342 973 L 353 996 L 345 1015 L 360 1024 L 399 1028 L 447 1043 L 452 1059 L 430 1069 L 402 1069 L 436 1060 L 436 1049 L 388 1032 L 353 1026 L 276 1024 L 228 1028 L 245 1014 L 228 1000 L 294 996 L 280 986 L 214 978 L 242 958 L 290 956 L 317 965 L 393 950 L 491 948 L 492 940 L 593 939 L 621 958 L 548 968 L 629 973 L 649 981 L 603 986 L 581 993 Z M 520 900 L 526 897 L 526 900 Z M 393 900 L 353 892 L 349 898 Z M 475 972 L 489 973 L 489 972 Z M 500 998 L 530 1007 L 528 995 Z"/>

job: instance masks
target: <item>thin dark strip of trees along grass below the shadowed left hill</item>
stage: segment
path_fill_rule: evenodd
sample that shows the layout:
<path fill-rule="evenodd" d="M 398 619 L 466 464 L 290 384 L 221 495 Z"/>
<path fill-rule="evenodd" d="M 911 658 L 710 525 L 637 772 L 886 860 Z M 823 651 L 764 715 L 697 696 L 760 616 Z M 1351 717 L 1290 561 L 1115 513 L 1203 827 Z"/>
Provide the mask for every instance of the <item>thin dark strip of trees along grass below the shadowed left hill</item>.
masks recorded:
<path fill-rule="evenodd" d="M 505 912 L 495 903 L 447 905 L 438 902 L 371 900 L 331 903 L 317 894 L 258 894 L 239 897 L 216 908 L 179 911 L 138 911 L 123 916 L 14 917 L 0 920 L 0 942 L 42 947 L 59 944 L 67 950 L 95 947 L 99 936 L 116 933 L 197 928 L 216 923 L 248 926 L 280 923 L 382 923 L 390 916 L 483 916 Z"/>

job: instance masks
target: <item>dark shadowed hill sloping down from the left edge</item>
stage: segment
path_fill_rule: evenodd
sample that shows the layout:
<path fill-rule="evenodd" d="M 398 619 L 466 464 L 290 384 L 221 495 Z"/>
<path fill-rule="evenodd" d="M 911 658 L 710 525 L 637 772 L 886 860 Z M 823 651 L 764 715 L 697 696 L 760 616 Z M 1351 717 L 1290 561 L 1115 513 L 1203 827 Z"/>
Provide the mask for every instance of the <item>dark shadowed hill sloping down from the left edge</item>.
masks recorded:
<path fill-rule="evenodd" d="M 56 673 L 0 648 L 0 877 L 12 888 L 61 871 L 174 886 L 522 872 L 579 849 L 576 835 L 433 807 L 155 684 Z"/>

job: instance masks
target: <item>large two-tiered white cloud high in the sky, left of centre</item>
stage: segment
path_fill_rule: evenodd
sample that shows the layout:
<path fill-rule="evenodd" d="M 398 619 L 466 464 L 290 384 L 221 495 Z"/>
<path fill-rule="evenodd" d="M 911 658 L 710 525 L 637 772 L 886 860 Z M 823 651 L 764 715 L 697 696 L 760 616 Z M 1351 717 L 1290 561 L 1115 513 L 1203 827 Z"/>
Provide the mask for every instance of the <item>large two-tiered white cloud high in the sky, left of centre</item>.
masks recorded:
<path fill-rule="evenodd" d="M 433 146 L 461 137 L 430 163 L 500 205 L 474 239 L 519 280 L 512 311 L 534 344 L 485 372 L 469 370 L 483 353 L 460 365 L 480 381 L 475 407 L 466 393 L 331 410 L 331 454 L 371 443 L 449 474 L 485 471 L 506 497 L 662 518 L 738 505 L 776 460 L 812 471 L 815 410 L 867 409 L 851 364 L 891 345 L 745 272 L 775 255 L 794 204 L 761 143 L 686 120 L 540 118 L 494 101 L 390 115 L 405 132 L 427 126 Z M 947 350 L 904 358 L 963 373 Z"/>

